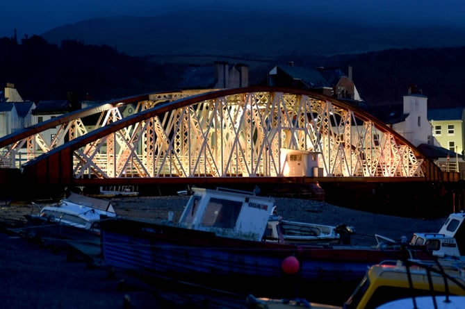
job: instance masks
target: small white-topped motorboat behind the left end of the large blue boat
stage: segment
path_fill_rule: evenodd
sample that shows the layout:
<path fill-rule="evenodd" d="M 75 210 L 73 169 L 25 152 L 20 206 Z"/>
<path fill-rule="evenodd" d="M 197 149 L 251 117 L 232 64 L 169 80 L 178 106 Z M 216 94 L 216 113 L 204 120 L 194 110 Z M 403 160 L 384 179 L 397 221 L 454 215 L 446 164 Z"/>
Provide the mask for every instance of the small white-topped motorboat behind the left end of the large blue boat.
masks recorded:
<path fill-rule="evenodd" d="M 25 216 L 28 226 L 24 232 L 27 237 L 39 237 L 49 243 L 76 240 L 100 246 L 101 220 L 116 217 L 110 201 L 73 192 L 56 204 L 37 207 L 37 213 L 32 211 Z"/>

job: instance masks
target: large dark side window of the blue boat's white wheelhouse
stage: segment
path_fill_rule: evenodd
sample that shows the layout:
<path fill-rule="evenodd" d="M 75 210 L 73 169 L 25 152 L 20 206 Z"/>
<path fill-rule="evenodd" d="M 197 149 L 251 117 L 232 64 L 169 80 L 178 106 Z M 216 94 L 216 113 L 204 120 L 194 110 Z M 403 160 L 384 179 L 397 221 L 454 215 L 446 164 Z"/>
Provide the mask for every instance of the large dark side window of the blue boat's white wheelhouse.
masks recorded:
<path fill-rule="evenodd" d="M 234 228 L 239 217 L 240 201 L 227 201 L 224 199 L 211 198 L 206 206 L 203 226 L 215 226 L 220 228 Z"/>

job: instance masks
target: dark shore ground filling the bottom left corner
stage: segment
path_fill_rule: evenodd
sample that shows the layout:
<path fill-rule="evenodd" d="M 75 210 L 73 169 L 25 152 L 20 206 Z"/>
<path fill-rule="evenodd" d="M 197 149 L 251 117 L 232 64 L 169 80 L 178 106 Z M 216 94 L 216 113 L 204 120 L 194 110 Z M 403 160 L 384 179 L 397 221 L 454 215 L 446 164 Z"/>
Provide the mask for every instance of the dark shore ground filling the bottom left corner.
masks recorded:
<path fill-rule="evenodd" d="M 64 248 L 0 233 L 1 308 L 246 308 L 245 296 L 163 281 L 146 285 Z M 73 253 L 70 253 L 73 252 Z"/>

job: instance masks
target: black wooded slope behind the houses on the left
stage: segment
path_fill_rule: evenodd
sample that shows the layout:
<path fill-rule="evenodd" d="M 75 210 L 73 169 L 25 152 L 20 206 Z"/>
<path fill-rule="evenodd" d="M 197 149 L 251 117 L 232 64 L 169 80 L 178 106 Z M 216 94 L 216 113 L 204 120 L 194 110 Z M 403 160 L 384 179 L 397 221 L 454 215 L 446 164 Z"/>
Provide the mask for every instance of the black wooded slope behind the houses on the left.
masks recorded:
<path fill-rule="evenodd" d="M 14 83 L 23 99 L 104 101 L 147 92 L 172 90 L 170 72 L 182 65 L 147 62 L 106 45 L 64 40 L 60 47 L 42 37 L 0 39 L 0 85 Z M 167 74 L 168 72 L 168 74 Z"/>

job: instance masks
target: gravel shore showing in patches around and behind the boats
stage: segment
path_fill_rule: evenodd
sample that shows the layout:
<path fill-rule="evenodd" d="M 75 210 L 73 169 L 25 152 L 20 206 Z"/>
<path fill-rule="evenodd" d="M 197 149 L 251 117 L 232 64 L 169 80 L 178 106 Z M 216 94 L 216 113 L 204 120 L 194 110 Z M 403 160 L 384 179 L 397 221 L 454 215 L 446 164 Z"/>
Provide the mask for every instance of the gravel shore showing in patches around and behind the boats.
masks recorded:
<path fill-rule="evenodd" d="M 118 215 L 145 220 L 176 221 L 188 197 L 133 197 L 112 199 Z M 31 212 L 29 203 L 0 204 L 3 226 L 20 226 Z M 437 232 L 446 217 L 411 219 L 363 212 L 308 199 L 277 198 L 278 212 L 285 219 L 320 224 L 354 226 L 352 244 L 375 244 L 374 234 L 400 239 L 415 231 Z M 125 274 L 111 274 L 106 267 L 70 258 L 64 249 L 44 247 L 3 229 L 0 233 L 0 293 L 2 308 L 238 308 L 222 301 L 147 287 Z M 241 300 L 239 300 L 241 301 Z M 188 306 L 186 306 L 188 303 Z"/>

